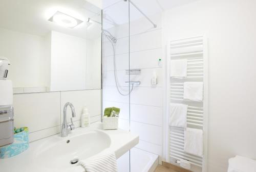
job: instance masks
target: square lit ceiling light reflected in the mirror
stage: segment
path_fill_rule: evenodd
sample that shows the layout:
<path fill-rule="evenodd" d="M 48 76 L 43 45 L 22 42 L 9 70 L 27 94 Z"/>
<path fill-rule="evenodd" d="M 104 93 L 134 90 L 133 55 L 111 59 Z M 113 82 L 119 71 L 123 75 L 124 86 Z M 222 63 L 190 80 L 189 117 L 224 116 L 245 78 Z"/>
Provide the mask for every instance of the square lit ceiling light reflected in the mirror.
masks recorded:
<path fill-rule="evenodd" d="M 82 22 L 82 20 L 79 20 L 75 17 L 72 17 L 68 14 L 62 13 L 57 11 L 50 19 L 49 21 L 52 21 L 59 26 L 67 27 L 67 28 L 75 28 L 78 24 Z"/>

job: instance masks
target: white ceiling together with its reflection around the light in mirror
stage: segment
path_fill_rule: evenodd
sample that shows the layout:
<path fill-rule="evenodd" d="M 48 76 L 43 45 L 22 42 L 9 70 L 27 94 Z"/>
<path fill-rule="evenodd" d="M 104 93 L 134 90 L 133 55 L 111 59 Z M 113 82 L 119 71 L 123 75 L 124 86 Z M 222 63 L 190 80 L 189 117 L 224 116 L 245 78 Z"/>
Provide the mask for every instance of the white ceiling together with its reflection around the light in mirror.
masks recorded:
<path fill-rule="evenodd" d="M 133 3 L 150 16 L 194 1 L 197 0 L 133 0 Z M 123 24 L 129 21 L 127 2 L 103 0 L 102 4 L 104 18 L 111 20 L 109 22 Z M 56 11 L 61 11 L 84 22 L 74 29 L 58 26 L 48 21 Z M 100 21 L 100 12 L 100 8 L 86 0 L 0 0 L 0 27 L 40 36 L 54 30 L 87 39 L 96 39 L 100 36 L 100 24 L 94 23 L 87 27 L 86 21 L 88 17 Z M 130 5 L 130 20 L 133 21 L 141 17 L 143 17 L 142 14 L 133 5 Z M 109 27 L 113 27 L 113 25 L 109 24 Z"/>

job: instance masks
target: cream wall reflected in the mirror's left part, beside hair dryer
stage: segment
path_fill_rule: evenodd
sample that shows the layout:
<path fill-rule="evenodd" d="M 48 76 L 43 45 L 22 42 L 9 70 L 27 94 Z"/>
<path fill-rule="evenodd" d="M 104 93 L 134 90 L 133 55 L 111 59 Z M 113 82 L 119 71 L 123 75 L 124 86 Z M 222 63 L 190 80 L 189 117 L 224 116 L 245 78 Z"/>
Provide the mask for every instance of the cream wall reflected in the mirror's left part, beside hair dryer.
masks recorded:
<path fill-rule="evenodd" d="M 46 86 L 43 37 L 0 28 L 0 56 L 11 62 L 8 79 L 13 87 Z"/>

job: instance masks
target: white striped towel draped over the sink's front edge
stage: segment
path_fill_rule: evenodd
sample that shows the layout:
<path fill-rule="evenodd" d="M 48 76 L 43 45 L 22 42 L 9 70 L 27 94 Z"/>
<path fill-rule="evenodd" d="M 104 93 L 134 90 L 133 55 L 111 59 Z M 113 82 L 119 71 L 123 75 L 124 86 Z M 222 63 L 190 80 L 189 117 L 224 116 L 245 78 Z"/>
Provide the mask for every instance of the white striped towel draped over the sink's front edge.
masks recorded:
<path fill-rule="evenodd" d="M 86 172 L 117 172 L 115 152 L 106 149 L 86 160 L 80 161 Z"/>

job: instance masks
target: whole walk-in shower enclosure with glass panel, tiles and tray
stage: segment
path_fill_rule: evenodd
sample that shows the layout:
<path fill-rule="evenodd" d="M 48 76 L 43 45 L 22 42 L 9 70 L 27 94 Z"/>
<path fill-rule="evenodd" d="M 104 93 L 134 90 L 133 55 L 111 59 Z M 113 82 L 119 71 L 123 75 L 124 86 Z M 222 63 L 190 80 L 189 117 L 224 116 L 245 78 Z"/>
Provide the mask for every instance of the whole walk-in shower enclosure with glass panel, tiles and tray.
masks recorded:
<path fill-rule="evenodd" d="M 161 17 L 153 19 L 160 21 Z M 119 128 L 140 136 L 136 148 L 118 158 L 118 172 L 154 171 L 158 164 L 162 88 L 151 80 L 152 74 L 162 72 L 158 63 L 161 30 L 156 27 L 129 0 L 115 1 L 102 11 L 102 112 L 120 108 Z"/>

